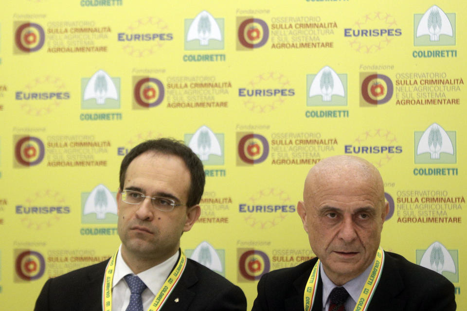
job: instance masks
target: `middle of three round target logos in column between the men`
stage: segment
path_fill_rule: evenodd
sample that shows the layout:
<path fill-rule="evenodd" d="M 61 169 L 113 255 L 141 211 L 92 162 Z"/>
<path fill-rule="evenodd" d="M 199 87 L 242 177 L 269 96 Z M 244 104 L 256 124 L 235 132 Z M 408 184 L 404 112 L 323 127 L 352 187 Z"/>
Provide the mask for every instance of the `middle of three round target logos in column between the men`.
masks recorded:
<path fill-rule="evenodd" d="M 238 155 L 245 163 L 261 163 L 269 155 L 268 140 L 259 134 L 245 135 L 238 142 Z"/>

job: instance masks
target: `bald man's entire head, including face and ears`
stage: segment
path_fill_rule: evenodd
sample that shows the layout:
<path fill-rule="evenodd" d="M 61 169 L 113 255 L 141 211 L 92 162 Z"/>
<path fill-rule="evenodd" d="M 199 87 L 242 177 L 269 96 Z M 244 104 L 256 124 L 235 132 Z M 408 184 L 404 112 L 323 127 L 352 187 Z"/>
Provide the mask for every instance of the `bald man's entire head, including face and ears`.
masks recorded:
<path fill-rule="evenodd" d="M 308 173 L 297 212 L 326 275 L 341 286 L 375 259 L 389 212 L 378 170 L 351 155 L 321 160 Z"/>

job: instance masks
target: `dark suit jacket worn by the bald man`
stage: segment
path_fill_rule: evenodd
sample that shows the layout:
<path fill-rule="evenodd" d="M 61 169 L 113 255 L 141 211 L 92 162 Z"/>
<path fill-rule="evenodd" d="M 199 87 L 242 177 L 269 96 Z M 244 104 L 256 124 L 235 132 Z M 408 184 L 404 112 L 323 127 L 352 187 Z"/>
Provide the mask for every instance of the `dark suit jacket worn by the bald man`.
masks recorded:
<path fill-rule="evenodd" d="M 429 269 L 409 262 L 400 255 L 385 252 L 384 267 L 368 311 L 451 311 L 456 310 L 454 286 Z M 318 259 L 269 272 L 258 282 L 258 296 L 252 311 L 302 311 L 305 284 Z M 312 311 L 321 311 L 323 281 Z"/>

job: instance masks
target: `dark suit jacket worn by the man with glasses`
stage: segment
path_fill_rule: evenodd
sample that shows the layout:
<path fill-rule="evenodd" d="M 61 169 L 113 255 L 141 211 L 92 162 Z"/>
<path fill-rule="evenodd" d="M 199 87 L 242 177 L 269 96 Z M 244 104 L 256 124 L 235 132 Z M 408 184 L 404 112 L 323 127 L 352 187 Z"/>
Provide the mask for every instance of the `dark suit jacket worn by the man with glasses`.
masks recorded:
<path fill-rule="evenodd" d="M 36 301 L 35 311 L 102 311 L 102 283 L 107 261 L 49 279 Z M 175 299 L 179 298 L 178 302 Z M 187 259 L 177 286 L 163 311 L 247 310 L 242 290 L 198 262 Z"/>

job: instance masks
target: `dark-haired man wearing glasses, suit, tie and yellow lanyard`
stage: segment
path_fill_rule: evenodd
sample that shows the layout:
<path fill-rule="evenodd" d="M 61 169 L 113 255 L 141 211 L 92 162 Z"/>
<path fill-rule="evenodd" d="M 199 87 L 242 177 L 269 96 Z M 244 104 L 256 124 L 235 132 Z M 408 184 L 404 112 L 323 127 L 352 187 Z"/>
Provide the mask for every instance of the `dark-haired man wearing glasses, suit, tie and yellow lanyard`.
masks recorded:
<path fill-rule="evenodd" d="M 246 310 L 239 287 L 180 251 L 204 183 L 201 161 L 182 143 L 161 138 L 134 147 L 120 167 L 118 251 L 49 279 L 35 310 Z"/>

